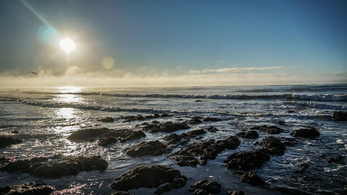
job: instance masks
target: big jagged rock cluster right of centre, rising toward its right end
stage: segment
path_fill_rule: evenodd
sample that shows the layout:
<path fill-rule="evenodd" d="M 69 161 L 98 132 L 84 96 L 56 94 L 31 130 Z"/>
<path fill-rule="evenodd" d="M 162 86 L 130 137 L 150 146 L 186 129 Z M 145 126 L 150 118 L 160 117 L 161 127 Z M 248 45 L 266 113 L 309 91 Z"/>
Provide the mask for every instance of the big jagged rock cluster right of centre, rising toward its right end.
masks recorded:
<path fill-rule="evenodd" d="M 213 139 L 203 141 L 187 146 L 185 149 L 180 149 L 176 153 L 169 155 L 177 161 L 180 167 L 196 167 L 197 164 L 205 165 L 207 160 L 214 160 L 219 153 L 225 149 L 233 150 L 239 146 L 240 141 L 235 136 L 230 136 L 227 139 L 215 142 Z M 200 160 L 196 158 L 199 156 Z"/>

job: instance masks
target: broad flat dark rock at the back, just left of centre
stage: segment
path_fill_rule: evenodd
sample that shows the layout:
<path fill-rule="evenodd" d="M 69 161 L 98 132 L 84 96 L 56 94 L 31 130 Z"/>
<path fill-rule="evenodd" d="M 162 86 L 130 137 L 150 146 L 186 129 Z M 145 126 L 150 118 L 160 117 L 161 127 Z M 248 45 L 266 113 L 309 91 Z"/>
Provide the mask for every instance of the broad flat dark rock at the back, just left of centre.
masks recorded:
<path fill-rule="evenodd" d="M 151 133 L 157 132 L 174 132 L 176 130 L 187 129 L 189 126 L 185 122 L 183 123 L 173 123 L 171 121 L 164 124 L 149 124 L 144 126 L 144 130 L 148 130 Z"/>

